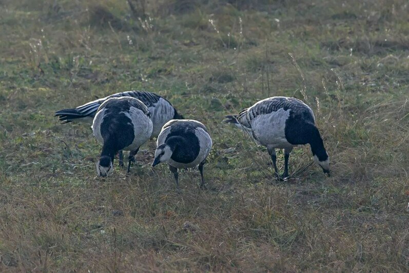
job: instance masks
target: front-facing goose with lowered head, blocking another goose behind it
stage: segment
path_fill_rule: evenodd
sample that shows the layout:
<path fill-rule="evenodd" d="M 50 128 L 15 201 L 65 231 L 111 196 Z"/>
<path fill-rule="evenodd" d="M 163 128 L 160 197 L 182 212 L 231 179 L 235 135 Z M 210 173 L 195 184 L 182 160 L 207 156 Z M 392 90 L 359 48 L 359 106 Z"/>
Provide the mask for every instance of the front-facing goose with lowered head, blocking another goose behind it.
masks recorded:
<path fill-rule="evenodd" d="M 103 143 L 96 172 L 106 177 L 112 172 L 115 154 L 129 150 L 128 173 L 139 147 L 149 140 L 152 127 L 150 112 L 140 100 L 121 96 L 103 102 L 92 123 L 96 139 Z"/>

